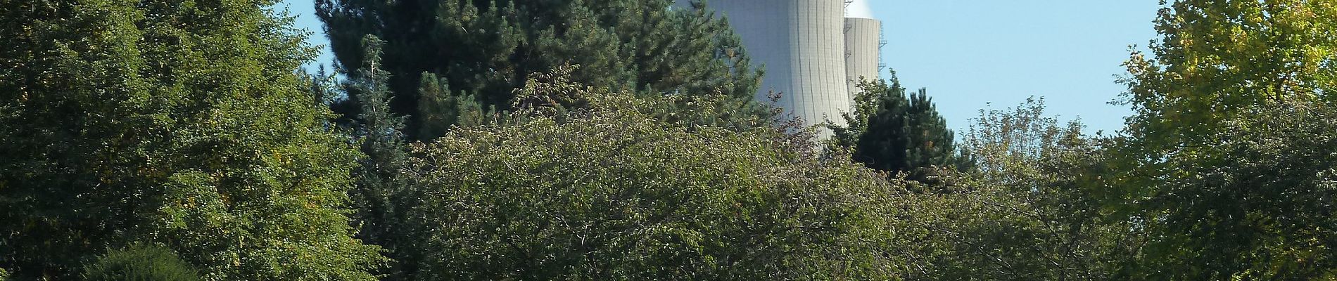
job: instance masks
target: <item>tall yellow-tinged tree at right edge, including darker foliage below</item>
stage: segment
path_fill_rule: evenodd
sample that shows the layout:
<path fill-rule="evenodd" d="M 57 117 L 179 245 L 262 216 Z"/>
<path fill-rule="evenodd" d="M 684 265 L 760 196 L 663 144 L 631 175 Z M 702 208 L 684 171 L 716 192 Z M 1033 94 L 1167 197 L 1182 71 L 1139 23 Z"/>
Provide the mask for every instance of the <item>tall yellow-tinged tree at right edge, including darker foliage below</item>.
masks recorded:
<path fill-rule="evenodd" d="M 1118 192 L 1147 280 L 1330 280 L 1337 5 L 1178 0 L 1128 60 Z M 1325 234 L 1318 234 L 1325 233 Z M 1130 266 L 1132 268 L 1132 266 Z"/>

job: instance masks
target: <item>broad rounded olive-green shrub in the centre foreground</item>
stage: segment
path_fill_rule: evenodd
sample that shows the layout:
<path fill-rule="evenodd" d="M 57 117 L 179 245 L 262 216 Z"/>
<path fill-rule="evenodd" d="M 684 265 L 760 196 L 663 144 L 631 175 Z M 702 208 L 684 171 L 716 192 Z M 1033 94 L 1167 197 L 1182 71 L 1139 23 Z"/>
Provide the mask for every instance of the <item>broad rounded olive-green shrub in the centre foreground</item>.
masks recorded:
<path fill-rule="evenodd" d="M 666 123 L 679 97 L 527 83 L 511 121 L 414 144 L 416 280 L 881 280 L 892 185 L 765 128 Z M 582 107 L 564 108 L 563 104 Z M 691 119 L 682 111 L 678 117 Z"/>

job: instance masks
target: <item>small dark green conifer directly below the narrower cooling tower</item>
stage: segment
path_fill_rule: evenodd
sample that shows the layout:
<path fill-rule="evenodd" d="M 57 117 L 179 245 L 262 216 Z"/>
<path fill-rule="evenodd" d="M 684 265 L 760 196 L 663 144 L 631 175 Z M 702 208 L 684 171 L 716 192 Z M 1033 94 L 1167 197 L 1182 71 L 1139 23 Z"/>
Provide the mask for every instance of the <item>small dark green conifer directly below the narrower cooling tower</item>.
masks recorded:
<path fill-rule="evenodd" d="M 842 113 L 848 125 L 826 125 L 833 131 L 832 142 L 852 148 L 854 161 L 893 173 L 957 165 L 953 133 L 928 91 L 906 96 L 894 72 L 890 83 L 860 84 L 864 91 L 854 97 L 853 113 Z"/>

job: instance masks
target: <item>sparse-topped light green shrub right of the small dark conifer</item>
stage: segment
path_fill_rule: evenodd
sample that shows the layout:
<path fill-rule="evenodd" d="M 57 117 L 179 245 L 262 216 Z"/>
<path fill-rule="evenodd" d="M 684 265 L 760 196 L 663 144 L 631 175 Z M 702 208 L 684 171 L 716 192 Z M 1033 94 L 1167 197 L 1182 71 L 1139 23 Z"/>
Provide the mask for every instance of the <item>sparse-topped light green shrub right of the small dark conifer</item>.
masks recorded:
<path fill-rule="evenodd" d="M 1140 238 L 1132 224 L 1100 213 L 1104 140 L 1080 123 L 1046 117 L 1043 100 L 981 111 L 963 137 L 976 157 L 963 188 L 908 200 L 921 204 L 931 256 L 925 277 L 940 280 L 1116 280 Z M 929 232 L 929 233 L 932 233 Z"/>

